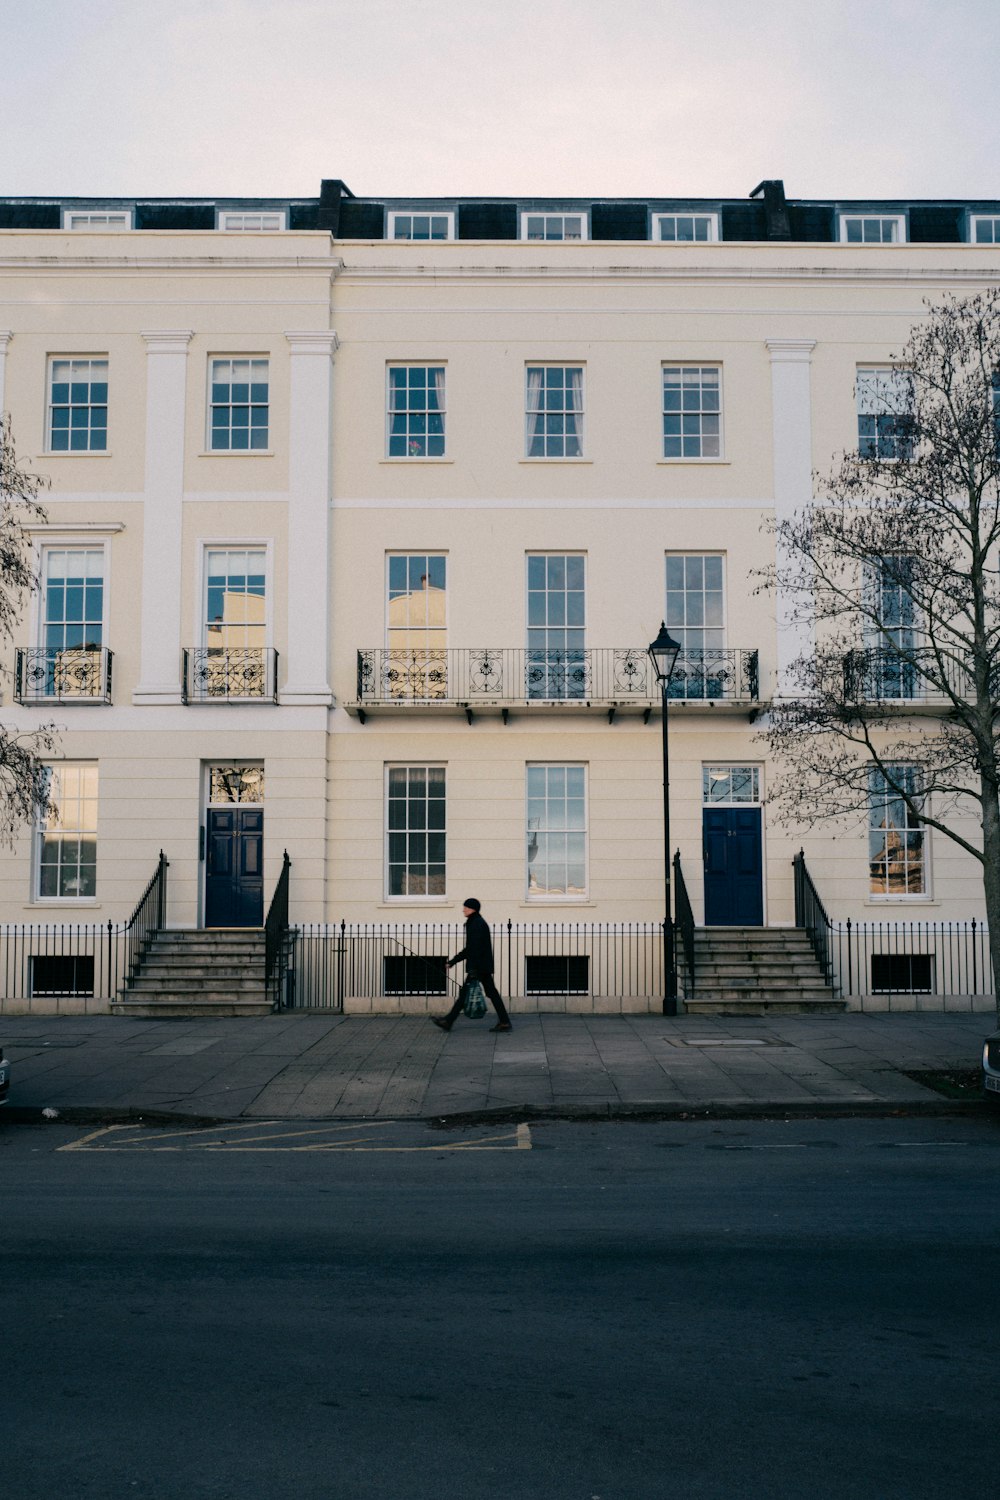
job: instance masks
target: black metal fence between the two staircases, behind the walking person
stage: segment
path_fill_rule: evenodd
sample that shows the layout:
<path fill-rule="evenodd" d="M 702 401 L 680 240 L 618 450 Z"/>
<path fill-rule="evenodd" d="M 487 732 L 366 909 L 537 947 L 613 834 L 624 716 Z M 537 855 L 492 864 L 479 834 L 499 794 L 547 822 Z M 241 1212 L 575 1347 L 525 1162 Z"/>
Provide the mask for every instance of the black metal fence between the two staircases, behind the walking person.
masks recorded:
<path fill-rule="evenodd" d="M 660 922 L 540 922 L 490 928 L 496 984 L 519 998 L 663 996 Z M 342 1010 L 345 1000 L 454 992 L 445 962 L 465 942 L 462 922 L 346 922 L 291 928 L 285 1004 Z"/>

